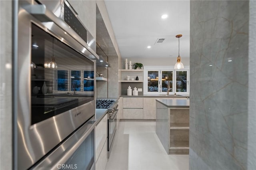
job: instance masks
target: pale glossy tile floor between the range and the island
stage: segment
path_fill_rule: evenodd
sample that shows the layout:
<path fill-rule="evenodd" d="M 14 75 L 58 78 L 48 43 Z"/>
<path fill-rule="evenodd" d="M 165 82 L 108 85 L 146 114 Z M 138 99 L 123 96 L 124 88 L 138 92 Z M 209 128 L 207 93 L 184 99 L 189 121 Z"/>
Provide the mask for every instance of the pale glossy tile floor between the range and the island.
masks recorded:
<path fill-rule="evenodd" d="M 120 122 L 106 170 L 188 170 L 188 155 L 168 155 L 155 122 Z"/>

